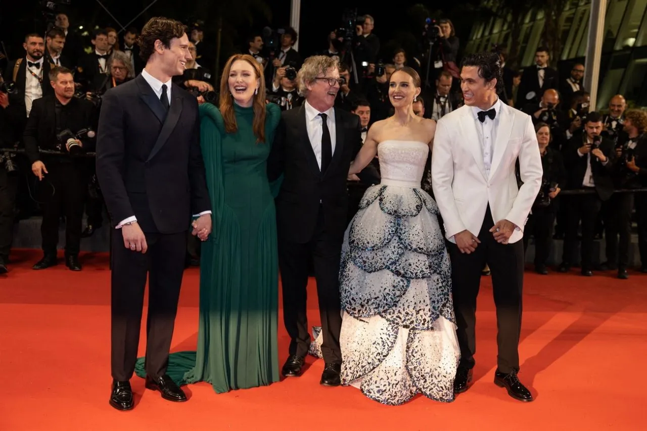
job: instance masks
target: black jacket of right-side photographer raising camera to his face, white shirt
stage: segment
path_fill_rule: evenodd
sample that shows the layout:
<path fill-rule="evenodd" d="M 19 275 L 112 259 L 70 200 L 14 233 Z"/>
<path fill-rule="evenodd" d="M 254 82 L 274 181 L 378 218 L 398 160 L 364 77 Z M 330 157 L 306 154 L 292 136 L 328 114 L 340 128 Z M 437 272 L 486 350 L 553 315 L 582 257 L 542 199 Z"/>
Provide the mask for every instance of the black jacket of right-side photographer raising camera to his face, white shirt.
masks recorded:
<path fill-rule="evenodd" d="M 573 135 L 567 145 L 562 149 L 564 154 L 564 165 L 568 173 L 567 186 L 569 189 L 581 189 L 584 175 L 586 174 L 588 157 L 586 154 L 580 156 L 578 149 L 582 147 L 584 142 L 583 135 L 578 132 Z M 613 194 L 613 165 L 615 162 L 615 150 L 613 148 L 613 141 L 607 138 L 602 138 L 600 142 L 600 150 L 609 162 L 602 165 L 596 156 L 591 154 L 591 171 L 593 173 L 593 182 L 595 183 L 595 191 L 601 200 L 608 200 Z"/>

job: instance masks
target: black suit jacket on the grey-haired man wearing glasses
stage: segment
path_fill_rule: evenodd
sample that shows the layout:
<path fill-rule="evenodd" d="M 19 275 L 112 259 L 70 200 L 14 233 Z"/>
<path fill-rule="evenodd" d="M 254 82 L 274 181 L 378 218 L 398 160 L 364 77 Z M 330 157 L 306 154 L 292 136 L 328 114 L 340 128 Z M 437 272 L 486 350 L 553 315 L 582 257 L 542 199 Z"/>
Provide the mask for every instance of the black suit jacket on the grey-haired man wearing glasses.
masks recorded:
<path fill-rule="evenodd" d="M 328 235 L 342 240 L 347 225 L 346 178 L 350 163 L 362 147 L 360 118 L 334 109 L 335 148 L 333 160 L 322 173 L 305 125 L 305 106 L 285 110 L 276 131 L 268 160 L 271 180 L 283 174 L 276 198 L 280 237 L 303 244 L 311 240 L 318 220 L 320 202 Z"/>

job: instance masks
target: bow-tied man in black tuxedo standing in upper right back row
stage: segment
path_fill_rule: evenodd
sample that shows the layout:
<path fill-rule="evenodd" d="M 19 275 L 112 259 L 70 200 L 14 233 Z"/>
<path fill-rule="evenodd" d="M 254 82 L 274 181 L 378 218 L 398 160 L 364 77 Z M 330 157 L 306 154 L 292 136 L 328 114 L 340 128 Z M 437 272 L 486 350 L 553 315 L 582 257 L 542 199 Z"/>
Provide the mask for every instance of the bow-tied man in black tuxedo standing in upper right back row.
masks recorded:
<path fill-rule="evenodd" d="M 517 105 L 539 102 L 547 89 L 559 90 L 557 70 L 548 67 L 550 56 L 547 48 L 539 47 L 534 54 L 534 65 L 527 67 L 521 74 L 517 90 Z"/>

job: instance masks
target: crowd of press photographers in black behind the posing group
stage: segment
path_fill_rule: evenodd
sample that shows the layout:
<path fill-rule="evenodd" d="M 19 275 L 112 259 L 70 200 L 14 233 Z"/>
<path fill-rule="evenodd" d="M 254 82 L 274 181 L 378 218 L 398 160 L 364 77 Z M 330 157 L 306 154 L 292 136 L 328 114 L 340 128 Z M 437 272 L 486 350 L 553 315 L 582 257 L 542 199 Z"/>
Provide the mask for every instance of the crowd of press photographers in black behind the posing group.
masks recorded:
<path fill-rule="evenodd" d="M 137 28 L 97 28 L 91 32 L 91 46 L 85 46 L 67 15 L 55 19 L 46 34 L 25 35 L 24 51 L 7 47 L 6 59 L 0 59 L 5 61 L 0 79 L 0 273 L 8 271 L 14 224 L 34 216 L 42 216 L 43 257 L 33 268 L 58 264 L 58 232 L 64 222 L 65 264 L 73 271 L 82 269 L 82 238 L 109 224 L 93 158 L 96 134 L 102 132 L 97 130 L 102 95 L 144 67 Z M 428 19 L 419 52 L 411 53 L 401 48 L 384 52 L 369 15 L 351 14 L 342 21 L 344 25 L 322 34 L 316 54 L 339 59 L 342 82 L 335 107 L 360 116 L 362 138 L 375 121 L 392 114 L 389 78 L 405 65 L 426 84 L 413 103 L 417 115 L 439 120 L 462 105 L 460 45 L 449 19 Z M 241 48 L 263 66 L 267 101 L 281 110 L 303 103 L 295 82 L 303 63 L 294 49 L 297 39 L 293 28 L 265 28 L 252 32 Z M 217 101 L 218 74 L 211 70 L 215 44 L 197 25 L 190 29 L 190 40 L 193 59 L 173 81 L 201 101 Z M 542 154 L 542 190 L 524 228 L 525 246 L 532 240 L 535 247 L 534 270 L 547 274 L 551 246 L 564 240 L 558 271 L 579 266 L 582 275 L 590 276 L 594 270 L 617 270 L 620 279 L 627 279 L 635 222 L 639 270 L 647 273 L 647 192 L 633 192 L 647 188 L 647 112 L 628 110 L 621 94 L 611 98 L 608 113 L 593 112 L 582 82 L 584 65 L 569 65 L 571 70 L 560 74 L 551 67 L 548 50 L 540 47 L 536 64 L 512 70 L 505 52 L 494 49 L 503 65 L 499 98 L 532 117 Z M 432 194 L 430 160 L 422 188 Z M 367 187 L 380 181 L 377 162 L 374 168 L 373 176 L 348 178 L 348 220 Z M 606 262 L 597 264 L 593 244 L 602 238 Z M 198 261 L 199 243 L 193 241 L 187 264 Z"/>

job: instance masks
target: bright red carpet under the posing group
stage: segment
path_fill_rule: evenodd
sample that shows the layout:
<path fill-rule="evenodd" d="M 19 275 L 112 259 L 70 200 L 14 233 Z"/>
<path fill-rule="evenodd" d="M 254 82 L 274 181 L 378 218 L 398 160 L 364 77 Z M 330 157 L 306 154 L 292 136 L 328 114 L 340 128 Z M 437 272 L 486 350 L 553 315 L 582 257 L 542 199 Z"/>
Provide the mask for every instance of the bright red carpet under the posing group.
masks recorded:
<path fill-rule="evenodd" d="M 583 278 L 575 271 L 526 274 L 521 373 L 536 397 L 514 401 L 492 383 L 496 319 L 489 277 L 477 315 L 474 386 L 454 403 L 417 397 L 404 406 L 371 401 L 355 388 L 323 388 L 323 363 L 265 388 L 217 395 L 185 386 L 188 403 L 164 401 L 133 377 L 135 410 L 117 412 L 110 392 L 110 291 L 106 255 L 82 255 L 33 271 L 36 251 L 12 255 L 0 276 L 0 430 L 638 430 L 647 405 L 647 275 Z M 197 269 L 186 271 L 173 350 L 195 348 Z M 311 283 L 309 317 L 318 323 Z M 145 311 L 146 312 L 146 311 Z M 281 317 L 282 319 L 282 317 Z M 287 335 L 280 321 L 281 363 Z M 142 329 L 144 326 L 142 325 Z M 144 338 L 140 352 L 143 352 Z M 643 424 L 643 425 L 641 425 Z"/>

